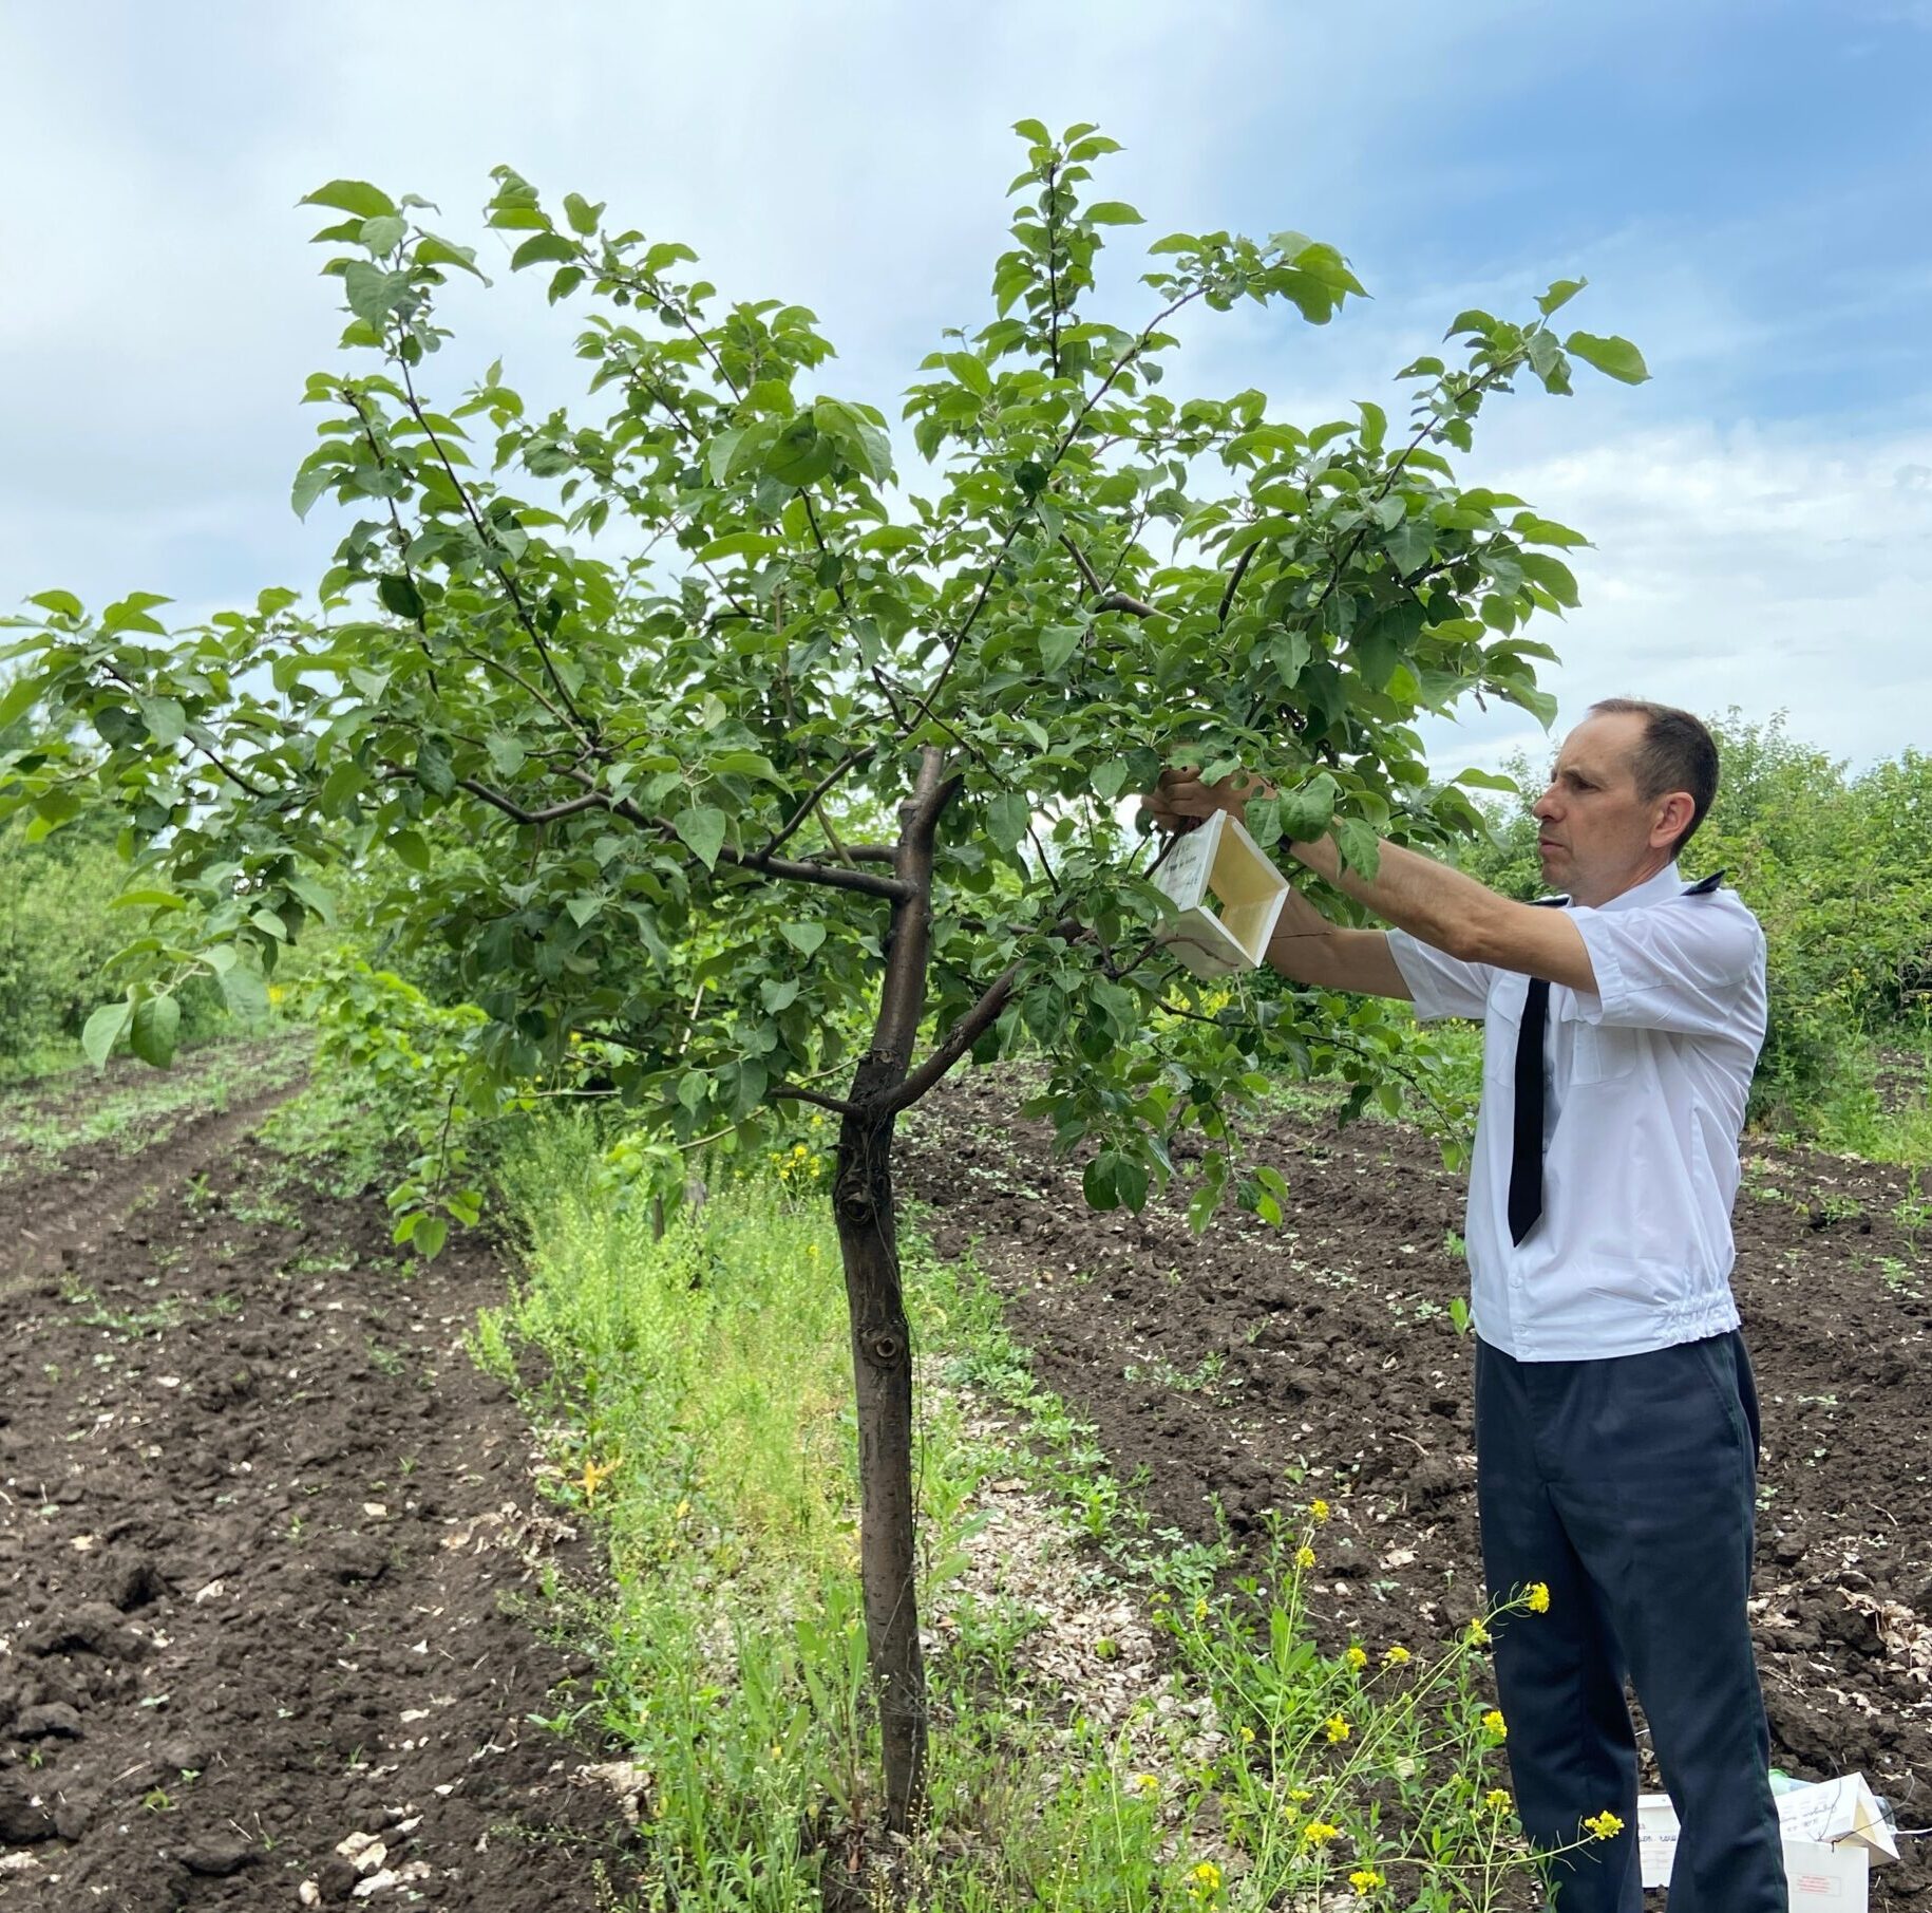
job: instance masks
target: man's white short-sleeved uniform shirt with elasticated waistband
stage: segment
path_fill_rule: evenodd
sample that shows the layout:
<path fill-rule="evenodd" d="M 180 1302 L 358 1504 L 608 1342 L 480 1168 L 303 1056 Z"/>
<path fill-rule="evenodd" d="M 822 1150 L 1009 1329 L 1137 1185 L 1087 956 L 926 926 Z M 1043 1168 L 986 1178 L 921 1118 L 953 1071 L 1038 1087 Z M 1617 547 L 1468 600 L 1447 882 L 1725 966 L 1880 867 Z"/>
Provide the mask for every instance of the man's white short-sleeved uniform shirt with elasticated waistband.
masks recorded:
<path fill-rule="evenodd" d="M 1544 1213 L 1509 1241 L 1517 1032 L 1530 980 L 1389 931 L 1416 1014 L 1484 1024 L 1468 1185 L 1476 1333 L 1524 1362 L 1644 1355 L 1737 1328 L 1731 1204 L 1764 1045 L 1764 931 L 1671 864 L 1571 904 L 1596 993 L 1549 985 Z"/>

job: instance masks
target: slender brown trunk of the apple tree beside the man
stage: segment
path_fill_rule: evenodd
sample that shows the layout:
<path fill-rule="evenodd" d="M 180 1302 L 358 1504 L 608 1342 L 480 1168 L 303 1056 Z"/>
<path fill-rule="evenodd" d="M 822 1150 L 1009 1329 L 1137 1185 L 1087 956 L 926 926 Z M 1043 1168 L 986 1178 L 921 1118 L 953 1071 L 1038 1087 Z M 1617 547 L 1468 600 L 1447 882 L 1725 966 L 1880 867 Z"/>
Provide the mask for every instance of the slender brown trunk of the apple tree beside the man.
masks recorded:
<path fill-rule="evenodd" d="M 895 1834 L 910 1832 L 925 1805 L 925 1656 L 920 1652 L 914 1550 L 912 1337 L 898 1281 L 891 1099 L 912 1067 L 912 1043 L 925 1011 L 933 841 L 939 814 L 956 790 L 958 777 L 947 775 L 941 754 L 923 748 L 918 783 L 898 812 L 893 860 L 908 895 L 893 904 L 879 1020 L 852 1078 L 833 1185 L 852 1318 L 866 1658 L 879 1704 L 885 1816 Z"/>

